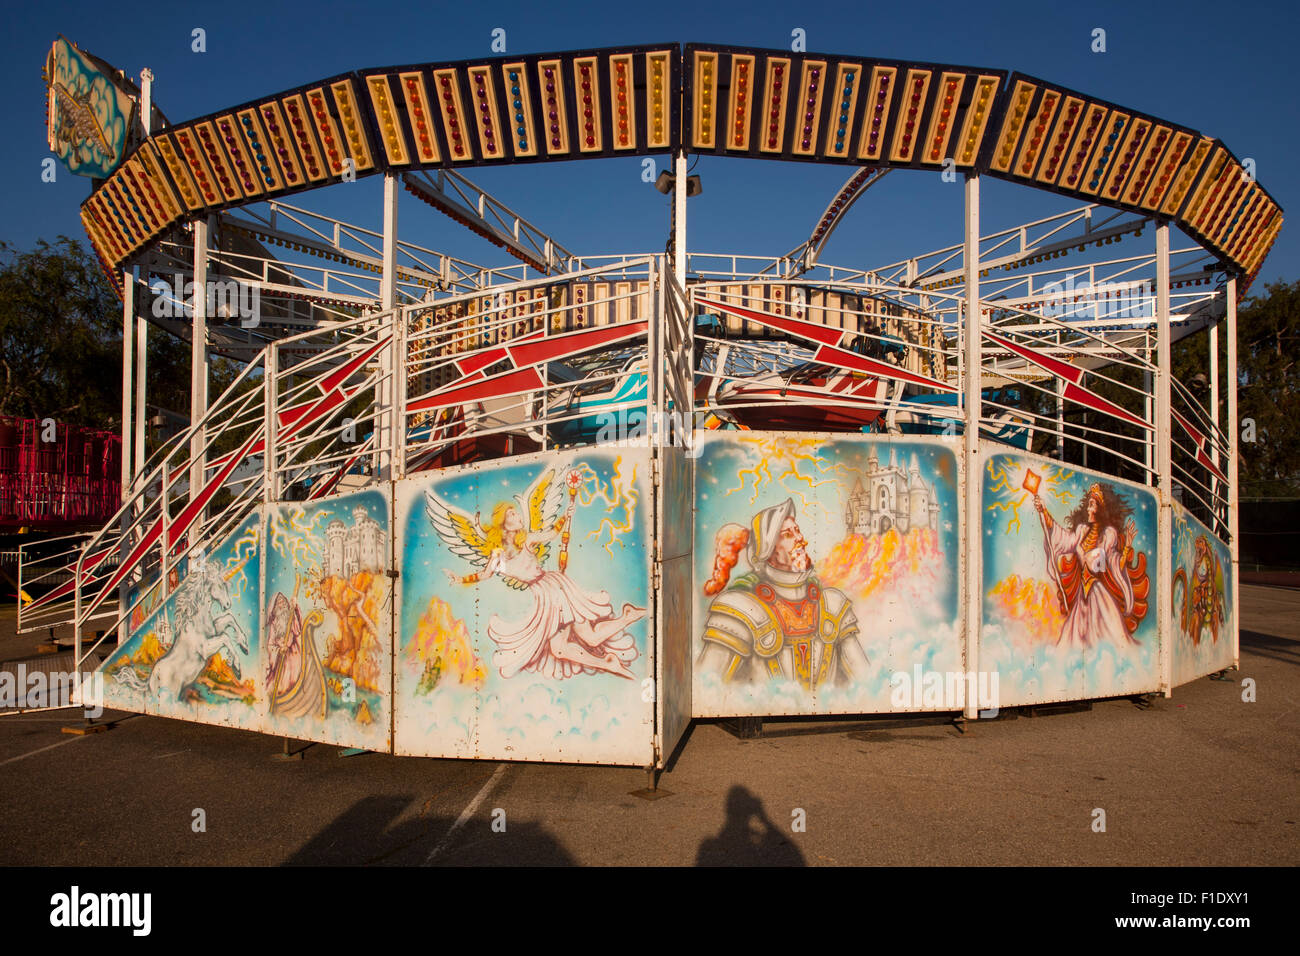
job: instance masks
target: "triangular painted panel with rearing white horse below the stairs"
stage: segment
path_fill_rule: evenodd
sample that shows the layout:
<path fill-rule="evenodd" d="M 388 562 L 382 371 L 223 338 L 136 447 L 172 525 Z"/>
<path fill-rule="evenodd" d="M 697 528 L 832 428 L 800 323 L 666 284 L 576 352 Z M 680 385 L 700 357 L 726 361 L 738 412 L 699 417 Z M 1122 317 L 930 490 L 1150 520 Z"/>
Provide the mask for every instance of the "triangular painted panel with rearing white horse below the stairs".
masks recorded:
<path fill-rule="evenodd" d="M 183 562 L 174 591 L 104 661 L 104 706 L 263 730 L 260 535 L 255 514 Z"/>

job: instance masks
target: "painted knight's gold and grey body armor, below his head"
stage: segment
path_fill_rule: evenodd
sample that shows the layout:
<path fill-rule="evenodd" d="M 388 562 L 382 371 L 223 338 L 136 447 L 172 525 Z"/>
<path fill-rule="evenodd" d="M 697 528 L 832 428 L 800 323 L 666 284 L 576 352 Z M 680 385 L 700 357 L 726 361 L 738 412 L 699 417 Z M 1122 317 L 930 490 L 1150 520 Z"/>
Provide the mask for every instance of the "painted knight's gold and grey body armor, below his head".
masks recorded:
<path fill-rule="evenodd" d="M 714 598 L 705 622 L 706 650 L 727 654 L 724 682 L 766 678 L 814 689 L 864 676 L 858 619 L 842 592 L 823 591 L 810 571 L 770 566 L 748 585 L 736 584 Z"/>

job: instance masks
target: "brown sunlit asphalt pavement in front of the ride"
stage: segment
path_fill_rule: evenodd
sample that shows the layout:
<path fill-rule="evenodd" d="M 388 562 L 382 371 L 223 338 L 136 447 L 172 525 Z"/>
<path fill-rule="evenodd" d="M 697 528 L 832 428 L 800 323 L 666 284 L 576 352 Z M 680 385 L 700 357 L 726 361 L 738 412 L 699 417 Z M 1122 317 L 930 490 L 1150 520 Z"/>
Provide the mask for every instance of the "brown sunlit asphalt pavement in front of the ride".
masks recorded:
<path fill-rule="evenodd" d="M 1248 585 L 1242 605 L 1242 671 L 1149 709 L 965 735 L 935 717 L 751 740 L 697 722 L 656 799 L 632 769 L 304 744 L 283 761 L 278 739 L 179 721 L 72 736 L 77 714 L 0 717 L 0 864 L 1294 866 L 1300 592 Z M 34 644 L 0 615 L 0 659 Z"/>

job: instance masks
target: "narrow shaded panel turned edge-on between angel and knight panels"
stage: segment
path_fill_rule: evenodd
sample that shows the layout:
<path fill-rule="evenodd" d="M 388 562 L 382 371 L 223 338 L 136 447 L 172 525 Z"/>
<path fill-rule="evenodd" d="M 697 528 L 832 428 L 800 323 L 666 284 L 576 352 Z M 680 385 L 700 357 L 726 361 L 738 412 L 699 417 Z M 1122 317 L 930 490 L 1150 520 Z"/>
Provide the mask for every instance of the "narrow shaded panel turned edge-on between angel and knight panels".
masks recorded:
<path fill-rule="evenodd" d="M 663 766 L 690 726 L 692 644 L 692 528 L 694 527 L 694 449 L 660 450 L 662 490 L 659 540 L 662 542 L 658 594 L 659 674 L 655 701 L 659 758 Z"/>

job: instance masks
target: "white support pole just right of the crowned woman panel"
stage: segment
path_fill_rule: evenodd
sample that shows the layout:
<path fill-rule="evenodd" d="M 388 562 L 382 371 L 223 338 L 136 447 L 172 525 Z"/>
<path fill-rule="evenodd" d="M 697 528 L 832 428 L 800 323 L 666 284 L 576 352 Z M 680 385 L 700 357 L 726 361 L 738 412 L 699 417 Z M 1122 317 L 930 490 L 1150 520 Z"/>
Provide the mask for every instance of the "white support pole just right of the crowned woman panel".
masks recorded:
<path fill-rule="evenodd" d="M 1173 337 L 1169 329 L 1169 224 L 1156 226 L 1156 470 L 1160 475 L 1160 511 L 1156 535 L 1156 633 L 1160 640 L 1160 689 L 1174 689 L 1174 635 L 1169 596 L 1174 572 L 1174 460 L 1170 386 Z"/>

